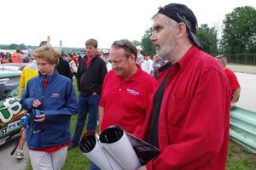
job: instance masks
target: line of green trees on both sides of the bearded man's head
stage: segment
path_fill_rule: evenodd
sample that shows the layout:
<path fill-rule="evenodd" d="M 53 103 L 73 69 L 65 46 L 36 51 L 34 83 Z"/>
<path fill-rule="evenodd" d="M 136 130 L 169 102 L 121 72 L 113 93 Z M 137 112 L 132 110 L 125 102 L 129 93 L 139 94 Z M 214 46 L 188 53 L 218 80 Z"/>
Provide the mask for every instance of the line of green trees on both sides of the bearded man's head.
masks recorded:
<path fill-rule="evenodd" d="M 256 9 L 250 6 L 234 8 L 225 14 L 223 28 L 202 24 L 197 29 L 197 37 L 203 50 L 208 54 L 256 54 Z M 222 36 L 218 39 L 218 33 Z M 133 41 L 143 48 L 142 54 L 155 54 L 150 41 L 152 28 L 145 31 L 142 41 Z"/>

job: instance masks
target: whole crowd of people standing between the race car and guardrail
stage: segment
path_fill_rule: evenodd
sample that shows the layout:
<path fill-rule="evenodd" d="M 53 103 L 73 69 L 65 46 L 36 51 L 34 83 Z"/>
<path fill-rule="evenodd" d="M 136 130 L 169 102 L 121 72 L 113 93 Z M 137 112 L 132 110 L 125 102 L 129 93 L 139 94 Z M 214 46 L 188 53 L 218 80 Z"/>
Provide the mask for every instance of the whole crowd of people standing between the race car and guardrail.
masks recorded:
<path fill-rule="evenodd" d="M 40 111 L 29 117 L 23 133 L 33 169 L 61 169 L 67 150 L 79 145 L 87 116 L 87 130 L 96 130 L 97 123 L 99 132 L 119 125 L 160 148 L 137 170 L 225 169 L 230 108 L 240 94 L 236 75 L 223 56 L 216 59 L 201 50 L 197 20 L 187 6 L 170 3 L 152 20 L 154 56 L 143 56 L 127 39 L 102 51 L 96 39 L 88 39 L 84 56 L 58 54 L 49 45 L 34 52 L 36 62 L 20 79 L 21 105 Z M 29 69 L 36 72 L 22 78 Z M 69 123 L 76 113 L 72 137 Z M 92 162 L 89 169 L 99 168 Z"/>

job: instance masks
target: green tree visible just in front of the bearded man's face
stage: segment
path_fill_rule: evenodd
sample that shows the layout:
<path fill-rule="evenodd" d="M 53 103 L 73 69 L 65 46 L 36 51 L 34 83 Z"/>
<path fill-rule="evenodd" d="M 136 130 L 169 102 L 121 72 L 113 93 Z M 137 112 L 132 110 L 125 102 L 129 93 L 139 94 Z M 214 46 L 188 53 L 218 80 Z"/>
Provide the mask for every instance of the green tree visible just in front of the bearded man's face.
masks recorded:
<path fill-rule="evenodd" d="M 152 35 L 152 28 L 149 28 L 144 33 L 141 46 L 143 48 L 142 54 L 150 53 L 151 56 L 153 56 L 155 54 L 155 48 L 153 43 L 150 41 L 151 35 Z"/>

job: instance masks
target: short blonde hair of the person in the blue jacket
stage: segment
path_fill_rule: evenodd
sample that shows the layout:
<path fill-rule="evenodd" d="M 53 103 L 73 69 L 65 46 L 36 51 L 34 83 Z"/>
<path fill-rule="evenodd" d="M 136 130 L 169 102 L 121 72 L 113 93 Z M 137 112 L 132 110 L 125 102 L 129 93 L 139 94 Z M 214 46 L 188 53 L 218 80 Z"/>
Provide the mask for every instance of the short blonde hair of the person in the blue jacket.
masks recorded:
<path fill-rule="evenodd" d="M 44 59 L 51 65 L 58 65 L 60 53 L 53 47 L 44 45 L 34 51 L 34 59 Z"/>

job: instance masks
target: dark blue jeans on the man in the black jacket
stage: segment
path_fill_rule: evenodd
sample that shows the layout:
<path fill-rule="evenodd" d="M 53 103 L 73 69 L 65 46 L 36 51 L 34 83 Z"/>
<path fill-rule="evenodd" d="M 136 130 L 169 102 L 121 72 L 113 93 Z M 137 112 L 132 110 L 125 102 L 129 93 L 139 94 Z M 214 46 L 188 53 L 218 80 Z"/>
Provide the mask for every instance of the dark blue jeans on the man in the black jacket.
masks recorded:
<path fill-rule="evenodd" d="M 79 144 L 84 123 L 86 121 L 87 113 L 89 113 L 89 121 L 87 123 L 87 130 L 96 130 L 96 123 L 98 117 L 100 95 L 84 96 L 79 94 L 79 115 L 76 124 L 76 130 L 73 134 L 73 145 Z"/>

